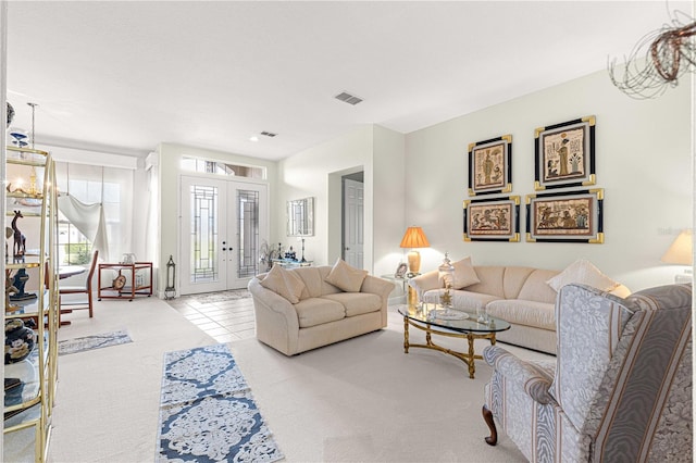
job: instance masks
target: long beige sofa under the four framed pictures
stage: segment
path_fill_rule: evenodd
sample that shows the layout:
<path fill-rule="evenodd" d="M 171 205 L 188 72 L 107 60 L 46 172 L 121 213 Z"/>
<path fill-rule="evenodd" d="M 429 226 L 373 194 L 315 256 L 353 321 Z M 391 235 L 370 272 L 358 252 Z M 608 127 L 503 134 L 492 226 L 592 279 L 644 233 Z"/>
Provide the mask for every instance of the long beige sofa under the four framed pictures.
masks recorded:
<path fill-rule="evenodd" d="M 631 292 L 582 259 L 563 272 L 471 265 L 465 259 L 455 263 L 453 287 L 458 289 L 450 290 L 452 309 L 473 314 L 485 309 L 488 315 L 512 325 L 509 330 L 498 333 L 496 339 L 556 354 L 556 297 L 560 287 L 570 283 L 601 286 L 599 289 L 619 297 Z M 445 291 L 436 270 L 411 278 L 409 285 L 419 300 L 427 303 L 439 303 Z"/>

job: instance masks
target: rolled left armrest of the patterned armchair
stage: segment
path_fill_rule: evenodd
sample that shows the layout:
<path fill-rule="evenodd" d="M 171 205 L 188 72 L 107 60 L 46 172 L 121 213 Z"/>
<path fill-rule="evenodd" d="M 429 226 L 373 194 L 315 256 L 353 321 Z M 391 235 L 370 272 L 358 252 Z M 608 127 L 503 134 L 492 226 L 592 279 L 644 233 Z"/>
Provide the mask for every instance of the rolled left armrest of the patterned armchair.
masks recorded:
<path fill-rule="evenodd" d="M 483 358 L 506 381 L 518 384 L 520 390 L 524 390 L 534 401 L 543 404 L 556 402 L 549 393 L 554 381 L 550 368 L 543 367 L 540 363 L 525 362 L 498 346 L 487 346 L 483 350 Z"/>

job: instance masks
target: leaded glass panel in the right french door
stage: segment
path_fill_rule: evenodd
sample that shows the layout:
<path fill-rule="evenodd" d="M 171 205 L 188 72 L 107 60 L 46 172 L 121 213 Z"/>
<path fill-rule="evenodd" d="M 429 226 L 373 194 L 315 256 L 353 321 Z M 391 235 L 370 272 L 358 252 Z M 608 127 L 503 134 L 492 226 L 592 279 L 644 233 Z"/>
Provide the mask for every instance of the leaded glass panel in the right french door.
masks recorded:
<path fill-rule="evenodd" d="M 259 265 L 259 192 L 237 190 L 239 255 L 237 276 L 252 277 Z"/>

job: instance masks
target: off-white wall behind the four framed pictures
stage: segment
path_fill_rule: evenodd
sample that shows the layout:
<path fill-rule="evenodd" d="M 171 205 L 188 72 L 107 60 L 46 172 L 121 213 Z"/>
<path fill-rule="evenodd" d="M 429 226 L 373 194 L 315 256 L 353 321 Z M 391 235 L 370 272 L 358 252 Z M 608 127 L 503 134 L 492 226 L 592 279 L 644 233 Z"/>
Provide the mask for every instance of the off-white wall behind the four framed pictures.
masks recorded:
<path fill-rule="evenodd" d="M 432 248 L 423 270 L 445 251 L 474 264 L 561 270 L 580 256 L 632 290 L 669 284 L 682 268 L 660 256 L 692 227 L 691 101 L 687 83 L 656 100 L 633 100 L 605 71 L 406 136 L 406 218 Z M 524 199 L 534 193 L 534 129 L 596 115 L 597 185 L 605 189 L 605 243 L 525 242 Z M 512 195 L 522 197 L 521 242 L 464 242 L 468 146 L 512 134 Z M 382 230 L 380 230 L 382 233 Z"/>

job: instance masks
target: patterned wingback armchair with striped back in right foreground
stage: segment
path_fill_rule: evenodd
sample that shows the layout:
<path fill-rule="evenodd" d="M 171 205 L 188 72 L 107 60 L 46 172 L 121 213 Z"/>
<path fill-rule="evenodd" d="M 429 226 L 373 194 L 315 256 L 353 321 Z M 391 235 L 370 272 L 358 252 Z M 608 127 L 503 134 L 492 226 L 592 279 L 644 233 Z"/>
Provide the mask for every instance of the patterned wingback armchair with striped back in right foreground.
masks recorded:
<path fill-rule="evenodd" d="M 486 441 L 497 423 L 532 462 L 692 462 L 691 285 L 626 299 L 568 285 L 556 323 L 556 361 L 484 350 Z"/>

